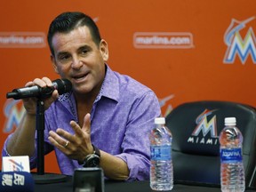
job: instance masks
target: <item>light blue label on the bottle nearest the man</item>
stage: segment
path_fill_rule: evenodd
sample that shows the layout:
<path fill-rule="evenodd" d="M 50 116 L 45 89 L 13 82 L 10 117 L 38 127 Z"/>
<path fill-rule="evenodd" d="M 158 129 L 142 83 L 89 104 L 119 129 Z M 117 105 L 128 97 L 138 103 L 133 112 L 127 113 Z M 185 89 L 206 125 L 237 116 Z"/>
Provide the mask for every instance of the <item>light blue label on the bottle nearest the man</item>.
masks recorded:
<path fill-rule="evenodd" d="M 170 161 L 171 160 L 171 152 L 172 148 L 170 145 L 163 146 L 151 146 L 151 160 L 153 161 Z"/>

